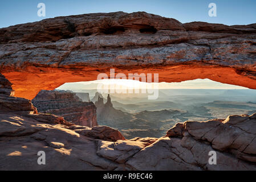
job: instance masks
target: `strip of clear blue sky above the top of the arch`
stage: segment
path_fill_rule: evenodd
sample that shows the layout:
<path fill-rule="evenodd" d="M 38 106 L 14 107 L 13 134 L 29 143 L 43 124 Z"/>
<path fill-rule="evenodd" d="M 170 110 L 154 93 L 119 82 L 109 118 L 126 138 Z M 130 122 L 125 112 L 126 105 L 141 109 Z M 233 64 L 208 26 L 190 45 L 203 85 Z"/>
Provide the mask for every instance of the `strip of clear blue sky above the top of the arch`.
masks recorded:
<path fill-rule="evenodd" d="M 209 3 L 216 3 L 217 17 L 208 15 Z M 37 16 L 38 3 L 46 5 L 46 17 Z M 182 23 L 202 21 L 223 24 L 256 23 L 255 0 L 8 0 L 1 1 L 0 27 L 35 22 L 55 16 L 86 13 L 146 11 Z"/>

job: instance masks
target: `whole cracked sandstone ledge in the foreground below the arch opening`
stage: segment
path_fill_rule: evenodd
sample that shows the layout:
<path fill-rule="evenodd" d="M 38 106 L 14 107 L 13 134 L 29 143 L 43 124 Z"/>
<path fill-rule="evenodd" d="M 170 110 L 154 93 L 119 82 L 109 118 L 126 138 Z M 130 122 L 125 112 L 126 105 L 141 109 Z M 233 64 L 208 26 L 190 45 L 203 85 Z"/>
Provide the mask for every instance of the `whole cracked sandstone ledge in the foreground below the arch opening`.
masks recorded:
<path fill-rule="evenodd" d="M 13 97 L 2 75 L 0 84 L 1 170 L 256 170 L 256 114 L 186 121 L 161 138 L 127 140 L 107 126 L 37 113 L 30 100 Z M 45 165 L 38 165 L 38 151 L 46 153 Z"/>

